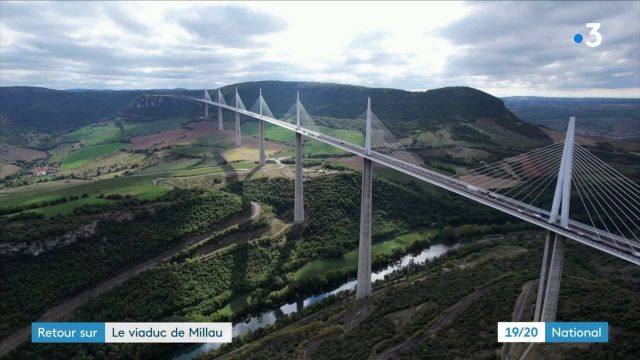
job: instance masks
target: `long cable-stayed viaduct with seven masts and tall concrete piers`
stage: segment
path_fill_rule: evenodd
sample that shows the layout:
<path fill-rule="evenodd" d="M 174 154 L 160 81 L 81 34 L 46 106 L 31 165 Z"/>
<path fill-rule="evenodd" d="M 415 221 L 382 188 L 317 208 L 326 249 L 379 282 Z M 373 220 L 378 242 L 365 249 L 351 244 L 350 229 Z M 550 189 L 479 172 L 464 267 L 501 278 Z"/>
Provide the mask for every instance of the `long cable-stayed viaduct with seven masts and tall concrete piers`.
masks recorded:
<path fill-rule="evenodd" d="M 366 104 L 364 116 L 350 124 L 351 128 L 362 129 L 364 144 L 353 144 L 338 136 L 328 135 L 324 131 L 326 127 L 319 126 L 302 105 L 299 94 L 296 102 L 280 119 L 269 109 L 262 91 L 249 110 L 237 89 L 229 102 L 224 99 L 220 89 L 215 100 L 206 89 L 203 98 L 168 96 L 203 103 L 205 118 L 209 118 L 209 105 L 217 107 L 219 130 L 224 129 L 222 111 L 231 111 L 235 118 L 236 146 L 240 146 L 242 141 L 240 116 L 258 120 L 261 164 L 266 163 L 265 122 L 296 134 L 295 224 L 303 224 L 305 216 L 302 136 L 338 147 L 363 159 L 358 298 L 371 294 L 374 162 L 548 230 L 535 321 L 555 319 L 566 239 L 640 265 L 640 186 L 575 143 L 573 117 L 569 119 L 563 142 L 448 176 L 426 168 L 421 159 L 408 151 L 375 116 L 371 110 L 371 99 Z M 570 216 L 570 210 L 573 217 Z"/>

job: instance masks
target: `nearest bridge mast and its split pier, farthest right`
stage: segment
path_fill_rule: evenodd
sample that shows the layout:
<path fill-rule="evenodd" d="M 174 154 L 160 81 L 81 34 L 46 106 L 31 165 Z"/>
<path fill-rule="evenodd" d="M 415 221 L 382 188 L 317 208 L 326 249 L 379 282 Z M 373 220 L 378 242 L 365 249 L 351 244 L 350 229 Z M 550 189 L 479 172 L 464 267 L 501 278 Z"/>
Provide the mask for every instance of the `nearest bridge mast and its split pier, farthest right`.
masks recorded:
<path fill-rule="evenodd" d="M 557 223 L 560 215 L 560 225 L 569 227 L 569 203 L 571 198 L 571 171 L 573 166 L 573 144 L 575 141 L 576 118 L 569 118 L 569 127 L 564 141 L 564 150 L 558 170 L 558 181 L 553 196 L 549 223 Z M 559 214 L 558 214 L 559 213 Z M 540 270 L 540 283 L 536 299 L 534 321 L 554 321 L 560 294 L 560 280 L 564 265 L 566 238 L 558 234 L 547 232 Z"/>

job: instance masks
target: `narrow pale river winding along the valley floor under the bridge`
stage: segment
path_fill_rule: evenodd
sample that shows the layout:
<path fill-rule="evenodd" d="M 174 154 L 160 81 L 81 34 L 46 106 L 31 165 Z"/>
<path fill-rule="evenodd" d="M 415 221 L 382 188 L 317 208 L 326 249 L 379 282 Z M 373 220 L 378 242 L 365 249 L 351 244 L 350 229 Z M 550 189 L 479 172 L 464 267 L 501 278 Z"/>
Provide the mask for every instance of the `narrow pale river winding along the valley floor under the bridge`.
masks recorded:
<path fill-rule="evenodd" d="M 428 248 L 422 250 L 419 254 L 409 254 L 409 255 L 405 255 L 403 256 L 400 260 L 394 262 L 393 264 L 385 267 L 382 270 L 376 271 L 374 273 L 371 274 L 371 281 L 377 281 L 377 280 L 381 280 L 384 279 L 385 276 L 387 276 L 388 274 L 391 274 L 394 271 L 400 270 L 406 266 L 408 266 L 411 263 L 414 264 L 423 264 L 424 262 L 426 262 L 427 260 L 431 260 L 431 259 L 435 259 L 439 256 L 441 256 L 442 254 L 446 253 L 447 251 L 451 250 L 451 249 L 455 249 L 457 247 L 460 246 L 460 243 L 456 243 L 453 245 L 445 245 L 445 244 L 434 244 L 429 246 Z M 232 336 L 236 337 L 239 335 L 243 335 L 246 334 L 248 332 L 252 332 L 255 331 L 257 329 L 260 329 L 262 327 L 268 326 L 268 325 L 272 325 L 274 324 L 279 318 L 283 317 L 283 316 L 287 316 L 289 314 L 293 314 L 295 312 L 300 311 L 301 309 L 311 305 L 311 304 L 315 304 L 318 301 L 329 297 L 331 295 L 337 294 L 341 291 L 350 291 L 350 290 L 354 290 L 356 288 L 356 280 L 349 280 L 345 283 L 343 283 L 342 285 L 338 286 L 337 288 L 331 290 L 331 291 L 327 291 L 318 295 L 313 295 L 310 296 L 304 300 L 300 300 L 298 302 L 293 302 L 290 304 L 285 304 L 280 306 L 277 309 L 274 310 L 269 310 L 269 311 L 265 311 L 260 313 L 259 315 L 256 316 L 252 316 L 250 318 L 247 318 L 247 320 L 236 323 L 233 325 L 233 333 Z M 218 347 L 220 347 L 222 344 L 218 344 L 218 343 L 207 343 L 207 344 L 197 344 L 194 345 L 193 347 L 189 347 L 183 351 L 181 351 L 180 353 L 176 354 L 173 359 L 174 360 L 188 360 L 188 359 L 193 359 L 194 357 L 196 357 L 197 355 L 206 353 L 208 351 L 217 349 Z"/>

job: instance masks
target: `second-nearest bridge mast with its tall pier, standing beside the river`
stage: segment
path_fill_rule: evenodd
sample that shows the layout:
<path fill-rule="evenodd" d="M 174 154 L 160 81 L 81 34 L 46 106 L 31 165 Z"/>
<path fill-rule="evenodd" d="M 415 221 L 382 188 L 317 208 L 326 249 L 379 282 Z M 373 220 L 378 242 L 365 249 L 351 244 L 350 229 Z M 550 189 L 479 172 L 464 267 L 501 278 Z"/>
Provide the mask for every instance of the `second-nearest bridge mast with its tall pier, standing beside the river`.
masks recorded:
<path fill-rule="evenodd" d="M 371 98 L 367 99 L 367 124 L 365 128 L 365 154 L 371 154 Z M 363 158 L 362 198 L 360 203 L 360 242 L 358 245 L 358 285 L 356 298 L 371 295 L 371 193 L 373 188 L 373 164 Z"/>

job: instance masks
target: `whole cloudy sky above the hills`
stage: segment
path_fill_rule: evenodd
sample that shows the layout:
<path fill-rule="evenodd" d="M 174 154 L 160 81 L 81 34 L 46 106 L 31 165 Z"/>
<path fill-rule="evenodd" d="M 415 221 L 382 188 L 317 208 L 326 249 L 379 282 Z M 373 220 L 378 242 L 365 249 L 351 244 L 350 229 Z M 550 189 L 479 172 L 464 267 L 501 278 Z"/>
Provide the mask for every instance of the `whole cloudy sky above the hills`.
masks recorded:
<path fill-rule="evenodd" d="M 640 97 L 640 2 L 0 2 L 0 86 Z M 601 24 L 602 43 L 586 23 Z M 576 43 L 575 34 L 584 41 Z"/>

